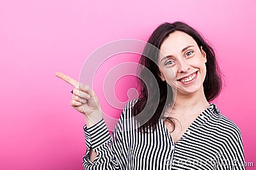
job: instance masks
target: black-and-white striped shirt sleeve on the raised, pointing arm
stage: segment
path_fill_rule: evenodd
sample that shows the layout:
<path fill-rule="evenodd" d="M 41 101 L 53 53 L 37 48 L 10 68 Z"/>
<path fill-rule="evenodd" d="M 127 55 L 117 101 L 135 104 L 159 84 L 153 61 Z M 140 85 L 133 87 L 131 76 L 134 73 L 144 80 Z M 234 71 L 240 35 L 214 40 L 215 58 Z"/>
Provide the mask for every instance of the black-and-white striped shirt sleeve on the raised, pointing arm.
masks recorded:
<path fill-rule="evenodd" d="M 124 111 L 122 112 L 122 114 Z M 86 170 L 91 169 L 125 169 L 125 146 L 124 133 L 122 131 L 123 120 L 121 118 L 110 135 L 108 127 L 104 119 L 100 120 L 97 124 L 87 128 L 84 125 L 84 136 L 86 143 L 86 153 L 83 156 L 83 167 Z M 90 149 L 97 153 L 97 157 L 92 162 L 90 160 Z M 126 157 L 127 158 L 127 157 Z"/>

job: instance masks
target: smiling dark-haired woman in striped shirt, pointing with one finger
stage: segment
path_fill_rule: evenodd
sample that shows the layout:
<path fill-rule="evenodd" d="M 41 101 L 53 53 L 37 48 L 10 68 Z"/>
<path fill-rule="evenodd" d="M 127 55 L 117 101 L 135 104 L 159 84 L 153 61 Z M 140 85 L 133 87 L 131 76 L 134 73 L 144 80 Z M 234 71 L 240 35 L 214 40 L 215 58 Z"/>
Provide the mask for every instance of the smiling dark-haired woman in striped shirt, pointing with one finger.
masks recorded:
<path fill-rule="evenodd" d="M 161 24 L 140 64 L 140 97 L 127 103 L 111 136 L 93 90 L 56 73 L 74 85 L 70 104 L 86 118 L 84 169 L 244 169 L 241 132 L 209 103 L 221 77 L 202 36 L 182 22 Z"/>

